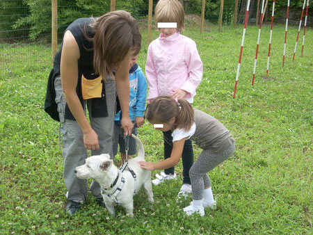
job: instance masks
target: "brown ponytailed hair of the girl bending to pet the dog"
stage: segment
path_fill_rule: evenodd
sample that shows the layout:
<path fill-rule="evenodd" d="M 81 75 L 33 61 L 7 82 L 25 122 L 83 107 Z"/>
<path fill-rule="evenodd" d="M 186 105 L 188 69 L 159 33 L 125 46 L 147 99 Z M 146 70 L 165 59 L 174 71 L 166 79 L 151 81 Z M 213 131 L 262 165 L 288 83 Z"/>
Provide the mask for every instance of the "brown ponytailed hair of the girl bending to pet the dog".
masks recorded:
<path fill-rule="evenodd" d="M 175 99 L 168 95 L 161 95 L 147 107 L 145 117 L 149 122 L 168 123 L 175 117 L 174 129 L 189 131 L 194 122 L 195 111 L 185 99 Z"/>

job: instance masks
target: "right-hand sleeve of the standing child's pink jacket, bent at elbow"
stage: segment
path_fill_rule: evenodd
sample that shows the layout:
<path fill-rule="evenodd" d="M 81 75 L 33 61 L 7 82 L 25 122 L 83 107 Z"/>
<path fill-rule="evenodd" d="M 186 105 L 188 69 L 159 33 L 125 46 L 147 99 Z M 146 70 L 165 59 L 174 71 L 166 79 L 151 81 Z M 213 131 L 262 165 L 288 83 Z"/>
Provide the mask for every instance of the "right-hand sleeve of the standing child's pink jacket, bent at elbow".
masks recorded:
<path fill-rule="evenodd" d="M 191 41 L 184 51 L 186 65 L 188 67 L 188 79 L 180 88 L 190 93 L 191 97 L 195 95 L 195 89 L 200 85 L 203 74 L 203 64 L 198 53 L 197 45 Z"/>

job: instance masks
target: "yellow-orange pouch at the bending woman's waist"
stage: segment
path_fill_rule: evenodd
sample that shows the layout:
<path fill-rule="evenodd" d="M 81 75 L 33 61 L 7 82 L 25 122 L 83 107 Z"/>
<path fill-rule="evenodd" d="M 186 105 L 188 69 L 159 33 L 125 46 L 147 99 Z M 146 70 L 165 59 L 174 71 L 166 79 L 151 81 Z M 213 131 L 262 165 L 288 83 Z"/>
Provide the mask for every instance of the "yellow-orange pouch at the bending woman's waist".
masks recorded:
<path fill-rule="evenodd" d="M 101 98 L 102 82 L 102 76 L 95 74 L 82 74 L 81 93 L 83 95 L 83 99 Z"/>

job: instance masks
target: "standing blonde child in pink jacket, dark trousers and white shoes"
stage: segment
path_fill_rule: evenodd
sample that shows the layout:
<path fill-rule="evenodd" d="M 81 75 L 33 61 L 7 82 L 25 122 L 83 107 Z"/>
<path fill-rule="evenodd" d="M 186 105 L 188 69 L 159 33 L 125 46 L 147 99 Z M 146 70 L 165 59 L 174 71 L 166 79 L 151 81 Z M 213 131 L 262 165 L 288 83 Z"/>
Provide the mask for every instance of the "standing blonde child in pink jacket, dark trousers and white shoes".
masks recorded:
<path fill-rule="evenodd" d="M 197 46 L 191 38 L 181 35 L 184 30 L 184 8 L 177 0 L 160 0 L 154 10 L 154 19 L 160 22 L 177 23 L 177 28 L 159 28 L 159 38 L 151 42 L 147 51 L 145 74 L 149 86 L 148 104 L 159 95 L 171 95 L 174 99 L 186 99 L 191 104 L 195 89 L 199 86 L 203 65 Z M 159 27 L 159 26 L 158 26 Z M 164 159 L 172 152 L 172 131 L 163 132 Z M 187 140 L 182 153 L 183 185 L 179 195 L 191 193 L 189 170 L 193 165 L 193 147 Z M 156 175 L 152 183 L 160 184 L 164 179 L 176 179 L 175 169 L 169 168 Z"/>

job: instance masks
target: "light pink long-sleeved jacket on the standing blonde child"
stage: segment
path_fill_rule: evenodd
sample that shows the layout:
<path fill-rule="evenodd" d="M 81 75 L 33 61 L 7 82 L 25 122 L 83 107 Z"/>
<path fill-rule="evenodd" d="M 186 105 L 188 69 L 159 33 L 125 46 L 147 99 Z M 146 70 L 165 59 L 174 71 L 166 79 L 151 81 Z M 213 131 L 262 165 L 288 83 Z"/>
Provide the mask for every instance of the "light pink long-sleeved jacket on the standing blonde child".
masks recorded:
<path fill-rule="evenodd" d="M 188 92 L 184 99 L 193 102 L 195 89 L 202 80 L 203 64 L 191 38 L 179 32 L 160 37 L 150 43 L 145 74 L 149 86 L 147 99 L 172 95 L 172 90 Z"/>

